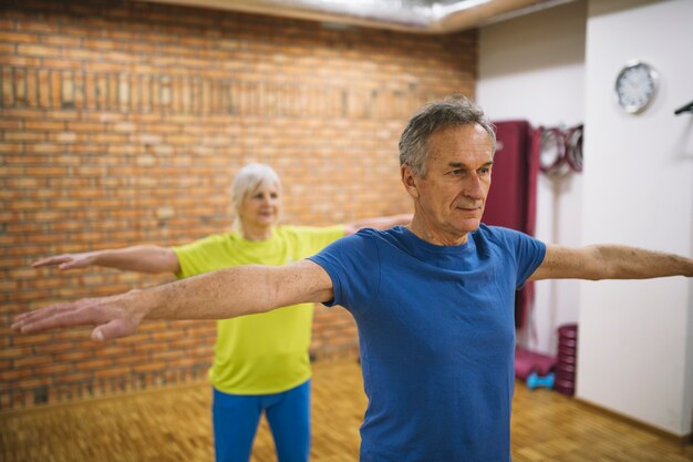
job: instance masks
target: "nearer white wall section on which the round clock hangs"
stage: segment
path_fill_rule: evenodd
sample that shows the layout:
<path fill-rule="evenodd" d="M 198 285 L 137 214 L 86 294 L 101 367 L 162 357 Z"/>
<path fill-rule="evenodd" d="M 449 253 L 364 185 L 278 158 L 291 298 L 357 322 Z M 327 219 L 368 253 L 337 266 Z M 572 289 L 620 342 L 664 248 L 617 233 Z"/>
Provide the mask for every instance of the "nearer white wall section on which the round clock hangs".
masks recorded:
<path fill-rule="evenodd" d="M 588 9 L 582 238 L 693 254 L 693 1 L 592 0 Z M 631 59 L 661 75 L 653 106 L 620 111 Z M 580 284 L 578 396 L 674 434 L 693 417 L 693 281 Z"/>

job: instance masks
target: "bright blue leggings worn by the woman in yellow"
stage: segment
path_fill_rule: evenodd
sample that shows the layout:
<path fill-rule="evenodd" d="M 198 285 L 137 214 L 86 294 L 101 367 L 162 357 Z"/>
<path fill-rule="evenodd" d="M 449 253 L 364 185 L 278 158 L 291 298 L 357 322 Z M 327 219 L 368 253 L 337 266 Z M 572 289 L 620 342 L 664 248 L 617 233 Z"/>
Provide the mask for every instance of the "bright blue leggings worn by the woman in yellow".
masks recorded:
<path fill-rule="evenodd" d="M 278 462 L 308 462 L 310 380 L 275 394 L 229 394 L 214 389 L 211 420 L 217 462 L 248 462 L 265 412 Z"/>

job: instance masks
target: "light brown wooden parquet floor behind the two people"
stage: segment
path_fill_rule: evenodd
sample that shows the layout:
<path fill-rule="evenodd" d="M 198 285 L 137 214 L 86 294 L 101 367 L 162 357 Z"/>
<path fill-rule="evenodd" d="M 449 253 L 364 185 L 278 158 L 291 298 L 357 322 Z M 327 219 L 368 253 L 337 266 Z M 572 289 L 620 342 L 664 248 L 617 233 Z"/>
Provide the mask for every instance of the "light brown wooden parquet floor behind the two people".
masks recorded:
<path fill-rule="evenodd" d="M 0 413 L 7 462 L 211 461 L 208 384 L 170 388 Z M 353 462 L 365 409 L 354 361 L 319 362 L 313 377 L 312 462 Z M 559 462 L 693 461 L 682 446 L 547 390 L 518 383 L 513 460 Z M 275 461 L 262 421 L 254 462 Z M 453 462 L 453 461 L 451 461 Z"/>

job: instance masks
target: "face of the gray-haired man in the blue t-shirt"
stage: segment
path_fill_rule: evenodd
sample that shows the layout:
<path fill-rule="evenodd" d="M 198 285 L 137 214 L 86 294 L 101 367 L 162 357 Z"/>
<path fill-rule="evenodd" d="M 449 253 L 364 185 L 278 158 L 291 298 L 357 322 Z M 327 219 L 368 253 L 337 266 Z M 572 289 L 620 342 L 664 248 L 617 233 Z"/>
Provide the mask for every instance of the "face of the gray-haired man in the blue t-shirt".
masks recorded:
<path fill-rule="evenodd" d="M 425 178 L 403 167 L 403 181 L 414 197 L 417 218 L 433 244 L 459 244 L 467 233 L 478 228 L 490 188 L 493 160 L 490 136 L 474 124 L 441 130 L 431 136 Z"/>

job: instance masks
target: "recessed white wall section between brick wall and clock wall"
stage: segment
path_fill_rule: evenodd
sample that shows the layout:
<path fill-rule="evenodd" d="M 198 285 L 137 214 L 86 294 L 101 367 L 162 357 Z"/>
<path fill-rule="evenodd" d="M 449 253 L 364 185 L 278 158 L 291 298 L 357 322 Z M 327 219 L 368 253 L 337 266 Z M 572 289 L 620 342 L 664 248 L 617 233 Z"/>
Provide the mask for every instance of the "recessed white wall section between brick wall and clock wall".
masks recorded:
<path fill-rule="evenodd" d="M 576 1 L 483 28 L 477 102 L 494 121 L 524 119 L 534 126 L 573 126 L 585 121 L 587 3 Z M 582 178 L 539 175 L 536 236 L 579 245 Z M 535 309 L 518 341 L 556 353 L 556 328 L 577 322 L 577 281 L 536 287 Z"/>

